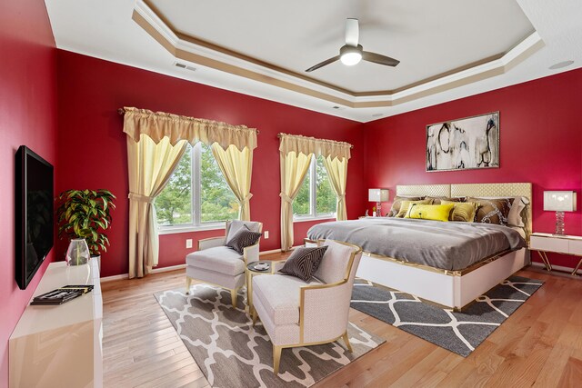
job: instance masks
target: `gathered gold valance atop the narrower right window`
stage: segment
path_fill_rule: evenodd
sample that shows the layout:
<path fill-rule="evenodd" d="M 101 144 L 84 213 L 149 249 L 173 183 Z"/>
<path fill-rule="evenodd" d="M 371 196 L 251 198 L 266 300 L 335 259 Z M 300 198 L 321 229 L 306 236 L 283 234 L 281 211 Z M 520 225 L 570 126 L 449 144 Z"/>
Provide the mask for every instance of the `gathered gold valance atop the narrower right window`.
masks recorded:
<path fill-rule="evenodd" d="M 350 158 L 352 144 L 336 142 L 334 140 L 316 139 L 315 137 L 302 136 L 300 134 L 279 134 L 281 139 L 279 151 L 283 154 L 295 152 L 296 154 L 323 155 L 331 159 Z"/>

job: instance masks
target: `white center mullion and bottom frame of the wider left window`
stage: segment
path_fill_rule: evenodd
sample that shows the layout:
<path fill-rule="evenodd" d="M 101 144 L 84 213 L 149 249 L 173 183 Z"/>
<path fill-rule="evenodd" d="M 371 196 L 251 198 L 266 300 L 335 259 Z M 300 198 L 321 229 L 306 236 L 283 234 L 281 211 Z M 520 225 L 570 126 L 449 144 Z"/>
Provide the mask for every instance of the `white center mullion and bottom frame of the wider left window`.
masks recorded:
<path fill-rule="evenodd" d="M 197 231 L 226 229 L 226 221 L 201 222 L 202 216 L 202 142 L 190 149 L 190 187 L 192 189 L 192 222 L 189 224 L 157 225 L 158 234 L 179 234 Z M 228 186 L 228 184 L 226 184 Z M 228 187 L 230 190 L 230 187 Z"/>

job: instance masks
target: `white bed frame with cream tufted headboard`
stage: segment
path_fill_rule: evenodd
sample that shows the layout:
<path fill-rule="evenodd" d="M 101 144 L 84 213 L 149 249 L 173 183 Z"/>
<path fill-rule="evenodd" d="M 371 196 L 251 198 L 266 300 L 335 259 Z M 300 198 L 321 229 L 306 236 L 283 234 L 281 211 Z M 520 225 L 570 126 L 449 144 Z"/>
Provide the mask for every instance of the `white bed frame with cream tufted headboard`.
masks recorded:
<path fill-rule="evenodd" d="M 396 195 L 524 196 L 529 204 L 522 212 L 526 240 L 531 234 L 531 184 L 416 184 L 396 186 Z M 356 275 L 456 310 L 474 301 L 508 276 L 530 264 L 529 250 L 522 248 L 488 258 L 463 271 L 445 271 L 364 253 Z"/>

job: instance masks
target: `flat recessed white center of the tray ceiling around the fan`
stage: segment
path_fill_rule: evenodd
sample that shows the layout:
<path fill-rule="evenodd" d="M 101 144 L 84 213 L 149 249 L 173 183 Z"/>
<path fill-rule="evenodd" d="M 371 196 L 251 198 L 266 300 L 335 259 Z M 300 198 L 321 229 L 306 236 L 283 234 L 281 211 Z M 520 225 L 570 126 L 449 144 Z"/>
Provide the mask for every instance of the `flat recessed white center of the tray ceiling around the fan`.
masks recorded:
<path fill-rule="evenodd" d="M 366 51 L 401 61 L 396 68 L 340 62 L 310 74 L 354 92 L 393 90 L 505 53 L 534 32 L 508 0 L 150 0 L 175 31 L 297 73 L 338 54 L 347 17 L 360 24 Z M 202 16 L 202 17 L 201 17 Z"/>

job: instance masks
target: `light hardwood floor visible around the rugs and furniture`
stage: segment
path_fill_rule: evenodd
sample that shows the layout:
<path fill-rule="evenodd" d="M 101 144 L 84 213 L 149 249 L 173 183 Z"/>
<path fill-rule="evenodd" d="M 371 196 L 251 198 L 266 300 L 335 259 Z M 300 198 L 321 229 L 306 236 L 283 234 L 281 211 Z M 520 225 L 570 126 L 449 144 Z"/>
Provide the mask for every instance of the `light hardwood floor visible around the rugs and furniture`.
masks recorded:
<path fill-rule="evenodd" d="M 316 386 L 582 386 L 582 281 L 519 274 L 546 284 L 467 358 L 351 310 L 386 343 Z M 105 387 L 208 386 L 153 296 L 184 285 L 183 270 L 102 284 Z"/>

